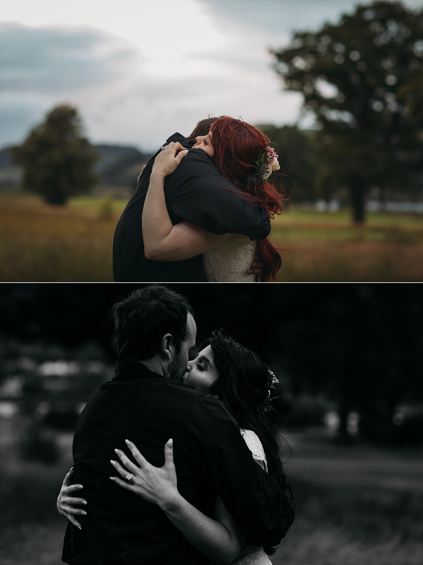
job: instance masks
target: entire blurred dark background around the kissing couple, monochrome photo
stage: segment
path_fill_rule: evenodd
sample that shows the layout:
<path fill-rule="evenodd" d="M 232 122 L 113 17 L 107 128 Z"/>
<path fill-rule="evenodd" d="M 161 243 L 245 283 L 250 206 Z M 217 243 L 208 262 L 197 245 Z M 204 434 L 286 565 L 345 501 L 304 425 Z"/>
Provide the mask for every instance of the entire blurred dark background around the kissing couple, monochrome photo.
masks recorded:
<path fill-rule="evenodd" d="M 114 374 L 112 312 L 143 285 L 0 285 L 0 561 L 56 565 L 80 411 Z M 200 342 L 225 327 L 279 380 L 297 507 L 274 565 L 420 565 L 420 285 L 168 285 Z M 89 509 L 88 509 L 89 511 Z"/>

